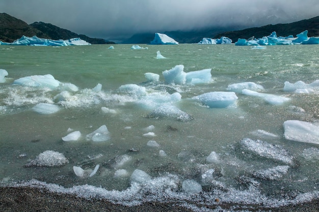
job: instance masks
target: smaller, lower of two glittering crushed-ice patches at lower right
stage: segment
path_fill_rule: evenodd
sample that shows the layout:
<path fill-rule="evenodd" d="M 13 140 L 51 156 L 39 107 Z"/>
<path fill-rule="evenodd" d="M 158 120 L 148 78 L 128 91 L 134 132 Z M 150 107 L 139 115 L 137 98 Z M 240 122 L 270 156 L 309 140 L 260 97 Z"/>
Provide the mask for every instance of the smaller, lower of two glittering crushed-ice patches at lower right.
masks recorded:
<path fill-rule="evenodd" d="M 253 173 L 253 176 L 260 179 L 276 180 L 282 178 L 289 168 L 289 166 L 276 166 L 266 170 L 258 170 Z"/>

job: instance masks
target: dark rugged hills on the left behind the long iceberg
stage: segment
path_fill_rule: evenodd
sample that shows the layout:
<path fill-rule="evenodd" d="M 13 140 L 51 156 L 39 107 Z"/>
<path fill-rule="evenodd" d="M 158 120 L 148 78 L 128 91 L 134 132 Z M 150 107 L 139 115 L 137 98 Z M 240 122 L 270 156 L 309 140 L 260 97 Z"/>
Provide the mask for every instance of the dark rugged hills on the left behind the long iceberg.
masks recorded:
<path fill-rule="evenodd" d="M 28 23 L 6 13 L 0 13 L 0 40 L 11 43 L 16 39 L 21 38 L 23 35 L 28 37 L 37 36 L 39 38 L 53 40 L 81 38 L 91 44 L 114 44 L 114 42 L 105 41 L 104 39 L 78 35 L 50 23 L 34 22 L 29 25 Z"/>

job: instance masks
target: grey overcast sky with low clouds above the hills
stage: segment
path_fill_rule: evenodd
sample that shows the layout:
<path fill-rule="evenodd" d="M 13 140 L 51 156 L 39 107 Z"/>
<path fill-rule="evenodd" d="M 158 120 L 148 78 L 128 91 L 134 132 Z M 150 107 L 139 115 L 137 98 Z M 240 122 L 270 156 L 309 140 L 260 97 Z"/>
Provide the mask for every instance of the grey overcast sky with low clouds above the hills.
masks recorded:
<path fill-rule="evenodd" d="M 275 24 L 319 16 L 318 0 L 0 0 L 0 12 L 93 38 L 203 26 Z M 278 17 L 273 16 L 276 14 Z"/>

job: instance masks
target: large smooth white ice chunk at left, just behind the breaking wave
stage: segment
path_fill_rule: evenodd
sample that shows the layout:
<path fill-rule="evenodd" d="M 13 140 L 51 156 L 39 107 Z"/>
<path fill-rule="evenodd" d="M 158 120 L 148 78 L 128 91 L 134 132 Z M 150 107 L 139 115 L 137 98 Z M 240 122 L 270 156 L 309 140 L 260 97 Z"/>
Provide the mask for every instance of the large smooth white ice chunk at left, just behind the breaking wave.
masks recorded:
<path fill-rule="evenodd" d="M 14 80 L 13 84 L 54 89 L 60 85 L 60 81 L 56 80 L 52 75 L 46 74 L 21 77 Z"/>

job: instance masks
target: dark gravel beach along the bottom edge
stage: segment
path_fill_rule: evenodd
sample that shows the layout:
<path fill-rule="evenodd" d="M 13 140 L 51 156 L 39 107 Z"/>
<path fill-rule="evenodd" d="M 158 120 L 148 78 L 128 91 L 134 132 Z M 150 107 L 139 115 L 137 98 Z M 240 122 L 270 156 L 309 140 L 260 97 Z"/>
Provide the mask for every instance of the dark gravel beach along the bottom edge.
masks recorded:
<path fill-rule="evenodd" d="M 236 206 L 236 209 L 233 209 Z M 289 205 L 284 207 L 269 208 L 259 205 L 233 205 L 220 204 L 209 206 L 209 209 L 216 207 L 230 209 L 232 211 L 319 211 L 319 199 L 311 202 Z M 200 207 L 199 207 L 200 208 Z M 85 199 L 74 195 L 63 193 L 52 193 L 46 189 L 29 187 L 1 187 L 0 188 L 0 211 L 193 211 L 191 209 L 178 206 L 176 203 L 146 202 L 137 206 L 123 206 L 113 204 L 107 200 Z"/>

